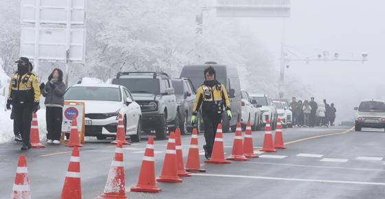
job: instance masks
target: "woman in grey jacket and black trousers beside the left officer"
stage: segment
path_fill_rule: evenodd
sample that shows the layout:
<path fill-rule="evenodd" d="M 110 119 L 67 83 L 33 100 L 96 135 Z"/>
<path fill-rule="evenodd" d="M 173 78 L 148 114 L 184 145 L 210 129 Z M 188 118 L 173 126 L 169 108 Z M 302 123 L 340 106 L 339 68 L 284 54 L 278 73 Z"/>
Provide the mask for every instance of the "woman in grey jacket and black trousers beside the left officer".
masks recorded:
<path fill-rule="evenodd" d="M 63 122 L 65 83 L 63 71 L 56 68 L 44 86 L 42 92 L 45 96 L 45 120 L 47 122 L 47 143 L 60 144 L 61 125 Z"/>

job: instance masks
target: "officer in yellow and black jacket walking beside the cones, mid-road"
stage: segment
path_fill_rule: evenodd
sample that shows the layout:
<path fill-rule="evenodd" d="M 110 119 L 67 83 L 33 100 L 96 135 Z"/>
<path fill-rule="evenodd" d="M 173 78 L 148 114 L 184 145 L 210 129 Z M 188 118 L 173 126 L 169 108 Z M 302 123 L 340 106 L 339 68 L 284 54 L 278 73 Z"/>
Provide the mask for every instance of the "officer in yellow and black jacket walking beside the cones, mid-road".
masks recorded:
<path fill-rule="evenodd" d="M 192 108 L 191 123 L 194 125 L 199 107 L 202 107 L 202 118 L 205 129 L 206 145 L 203 145 L 207 159 L 211 157 L 217 126 L 221 123 L 222 112 L 225 109 L 228 118 L 231 119 L 230 100 L 225 86 L 215 78 L 215 70 L 208 67 L 204 70 L 205 81 L 197 89 L 194 107 Z"/>

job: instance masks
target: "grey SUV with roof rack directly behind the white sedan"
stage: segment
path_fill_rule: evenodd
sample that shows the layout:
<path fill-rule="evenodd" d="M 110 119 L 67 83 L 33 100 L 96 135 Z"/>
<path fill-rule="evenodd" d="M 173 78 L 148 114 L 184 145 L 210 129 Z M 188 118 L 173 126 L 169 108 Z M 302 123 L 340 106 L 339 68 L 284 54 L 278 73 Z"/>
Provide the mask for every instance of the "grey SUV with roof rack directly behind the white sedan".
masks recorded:
<path fill-rule="evenodd" d="M 155 130 L 158 140 L 179 126 L 179 110 L 173 83 L 164 72 L 118 72 L 113 84 L 124 85 L 140 105 L 143 114 L 143 130 Z"/>

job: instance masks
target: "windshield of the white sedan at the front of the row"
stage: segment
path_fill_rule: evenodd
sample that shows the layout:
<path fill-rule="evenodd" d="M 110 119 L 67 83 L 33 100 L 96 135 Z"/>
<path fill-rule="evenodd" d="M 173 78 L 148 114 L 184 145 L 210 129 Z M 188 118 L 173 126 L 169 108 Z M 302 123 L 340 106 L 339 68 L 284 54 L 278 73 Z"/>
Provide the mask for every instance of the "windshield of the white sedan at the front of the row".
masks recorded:
<path fill-rule="evenodd" d="M 122 101 L 118 87 L 69 87 L 65 100 Z"/>

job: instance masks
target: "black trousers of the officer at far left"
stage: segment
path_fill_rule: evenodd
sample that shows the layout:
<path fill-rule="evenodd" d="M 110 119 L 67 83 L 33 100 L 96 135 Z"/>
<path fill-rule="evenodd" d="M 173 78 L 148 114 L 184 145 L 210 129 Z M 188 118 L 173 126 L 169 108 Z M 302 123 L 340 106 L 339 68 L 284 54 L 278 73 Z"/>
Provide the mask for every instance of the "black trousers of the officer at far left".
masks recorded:
<path fill-rule="evenodd" d="M 21 137 L 23 138 L 23 144 L 30 145 L 32 103 L 14 104 L 14 112 L 14 125 L 17 125 L 17 129 L 14 129 L 14 132 L 19 130 Z"/>

